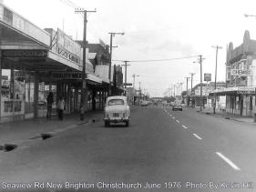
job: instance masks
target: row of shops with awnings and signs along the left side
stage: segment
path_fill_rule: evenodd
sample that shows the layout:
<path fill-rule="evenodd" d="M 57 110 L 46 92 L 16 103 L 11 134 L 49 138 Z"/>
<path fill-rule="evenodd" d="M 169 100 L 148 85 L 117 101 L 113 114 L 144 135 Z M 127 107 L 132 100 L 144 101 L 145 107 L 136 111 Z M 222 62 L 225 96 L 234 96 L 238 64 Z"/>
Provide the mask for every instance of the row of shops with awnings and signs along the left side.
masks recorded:
<path fill-rule="evenodd" d="M 60 29 L 40 29 L 1 3 L 0 10 L 0 122 L 46 116 L 50 91 L 54 111 L 63 96 L 65 113 L 79 112 L 83 63 L 79 42 Z M 108 55 L 108 49 L 101 47 Z M 98 58 L 86 60 L 86 110 L 105 106 L 109 84 L 116 93 L 123 92 L 121 69 L 112 67 L 115 76 L 110 81 L 108 62 L 101 66 L 101 61 L 92 64 L 93 60 Z"/>

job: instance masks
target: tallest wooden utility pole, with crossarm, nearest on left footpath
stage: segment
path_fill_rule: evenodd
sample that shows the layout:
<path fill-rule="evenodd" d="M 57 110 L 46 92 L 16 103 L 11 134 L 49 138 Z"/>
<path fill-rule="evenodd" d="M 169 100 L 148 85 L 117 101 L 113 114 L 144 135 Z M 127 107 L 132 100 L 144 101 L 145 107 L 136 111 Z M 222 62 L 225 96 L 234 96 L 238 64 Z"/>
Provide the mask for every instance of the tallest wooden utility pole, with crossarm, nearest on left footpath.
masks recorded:
<path fill-rule="evenodd" d="M 80 100 L 80 120 L 85 118 L 85 110 L 87 109 L 87 80 L 86 80 L 86 66 L 87 66 L 87 13 L 95 13 L 94 11 L 87 11 L 84 9 L 76 9 L 76 14 L 84 14 L 84 37 L 83 37 L 83 69 L 82 69 L 82 86 L 81 86 L 81 100 Z"/>

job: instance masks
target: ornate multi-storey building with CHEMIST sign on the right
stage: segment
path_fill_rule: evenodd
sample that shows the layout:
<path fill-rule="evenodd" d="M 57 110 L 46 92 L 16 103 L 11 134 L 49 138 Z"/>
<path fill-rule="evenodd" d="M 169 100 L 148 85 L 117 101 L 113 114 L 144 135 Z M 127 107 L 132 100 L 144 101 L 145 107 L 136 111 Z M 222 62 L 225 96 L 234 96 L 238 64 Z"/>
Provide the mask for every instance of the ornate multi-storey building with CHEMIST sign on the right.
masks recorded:
<path fill-rule="evenodd" d="M 226 96 L 226 112 L 240 116 L 253 116 L 256 87 L 256 41 L 249 31 L 243 35 L 243 43 L 227 50 L 226 87 L 215 90 L 217 96 Z M 214 94 L 212 92 L 211 94 Z"/>

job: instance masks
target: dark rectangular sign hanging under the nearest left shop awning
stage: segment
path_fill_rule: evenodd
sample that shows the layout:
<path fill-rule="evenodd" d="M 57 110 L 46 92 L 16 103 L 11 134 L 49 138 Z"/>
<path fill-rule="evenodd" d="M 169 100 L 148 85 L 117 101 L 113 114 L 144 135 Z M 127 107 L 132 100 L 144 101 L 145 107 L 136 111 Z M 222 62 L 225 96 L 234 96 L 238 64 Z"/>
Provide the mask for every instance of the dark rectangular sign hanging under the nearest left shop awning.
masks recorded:
<path fill-rule="evenodd" d="M 46 50 L 2 50 L 3 57 L 42 58 L 47 56 Z"/>

